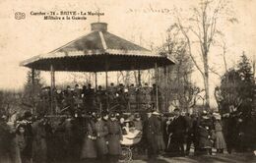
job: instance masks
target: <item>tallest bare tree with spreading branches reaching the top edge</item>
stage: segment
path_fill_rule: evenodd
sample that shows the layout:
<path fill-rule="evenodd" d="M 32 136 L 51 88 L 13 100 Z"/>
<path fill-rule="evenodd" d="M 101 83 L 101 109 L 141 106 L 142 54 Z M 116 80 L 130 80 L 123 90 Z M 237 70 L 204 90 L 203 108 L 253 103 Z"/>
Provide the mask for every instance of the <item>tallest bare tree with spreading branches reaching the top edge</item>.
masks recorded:
<path fill-rule="evenodd" d="M 180 29 L 186 38 L 188 54 L 204 80 L 207 109 L 210 107 L 209 72 L 215 72 L 209 67 L 209 54 L 212 46 L 218 42 L 218 36 L 224 35 L 218 25 L 221 18 L 227 18 L 225 17 L 227 16 L 227 4 L 228 2 L 224 0 L 201 0 L 199 7 L 192 9 L 192 17 L 188 20 L 183 19 L 176 10 L 177 23 L 175 26 Z M 188 25 L 183 23 L 183 20 L 186 20 Z M 235 19 L 229 19 L 229 17 L 226 21 L 236 22 Z M 194 50 L 194 48 L 197 50 Z M 201 60 L 195 58 L 195 53 L 199 53 Z"/>

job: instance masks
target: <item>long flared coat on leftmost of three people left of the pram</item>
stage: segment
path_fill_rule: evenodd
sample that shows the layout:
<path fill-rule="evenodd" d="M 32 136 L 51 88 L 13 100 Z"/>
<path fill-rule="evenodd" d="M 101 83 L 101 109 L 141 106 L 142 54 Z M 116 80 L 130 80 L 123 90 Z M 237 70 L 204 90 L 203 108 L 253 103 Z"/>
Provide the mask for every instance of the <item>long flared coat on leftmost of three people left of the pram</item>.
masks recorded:
<path fill-rule="evenodd" d="M 81 158 L 96 158 L 96 124 L 93 120 L 90 120 L 87 124 Z"/>

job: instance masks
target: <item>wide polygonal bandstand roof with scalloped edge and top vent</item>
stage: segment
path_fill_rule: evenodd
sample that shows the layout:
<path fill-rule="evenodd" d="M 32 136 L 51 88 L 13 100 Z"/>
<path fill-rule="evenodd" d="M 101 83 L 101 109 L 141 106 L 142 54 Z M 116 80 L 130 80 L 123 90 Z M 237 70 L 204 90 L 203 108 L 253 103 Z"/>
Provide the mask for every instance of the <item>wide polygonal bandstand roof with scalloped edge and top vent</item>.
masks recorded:
<path fill-rule="evenodd" d="M 34 56 L 21 66 L 35 70 L 104 72 L 146 70 L 174 64 L 169 58 L 107 31 L 107 24 L 92 24 L 92 32 L 47 54 Z"/>

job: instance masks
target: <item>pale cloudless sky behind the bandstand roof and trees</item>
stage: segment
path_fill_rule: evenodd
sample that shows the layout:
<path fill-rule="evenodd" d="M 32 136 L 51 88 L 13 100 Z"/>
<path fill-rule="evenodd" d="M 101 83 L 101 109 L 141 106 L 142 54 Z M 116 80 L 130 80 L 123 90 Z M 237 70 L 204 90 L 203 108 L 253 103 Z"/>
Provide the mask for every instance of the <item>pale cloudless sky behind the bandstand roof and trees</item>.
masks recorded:
<path fill-rule="evenodd" d="M 166 36 L 166 29 L 173 24 L 173 8 L 182 9 L 189 15 L 189 9 L 199 0 L 1 0 L 0 1 L 0 88 L 20 89 L 26 81 L 28 68 L 20 67 L 20 62 L 34 55 L 50 52 L 61 45 L 89 33 L 90 25 L 97 22 L 96 16 L 87 16 L 87 20 L 43 20 L 42 16 L 32 16 L 32 12 L 96 12 L 104 13 L 100 22 L 108 24 L 108 31 L 146 48 L 160 46 Z M 237 63 L 244 51 L 252 60 L 256 55 L 256 0 L 230 0 L 230 6 L 237 24 L 221 25 L 227 46 L 227 67 Z M 150 9 L 164 10 L 151 12 Z M 15 13 L 26 14 L 26 19 L 16 20 Z M 220 51 L 214 48 L 210 55 L 210 64 L 219 73 L 224 73 L 224 62 Z M 49 83 L 49 73 L 43 78 Z M 203 80 L 195 69 L 193 81 L 199 86 Z M 63 73 L 56 74 L 56 81 L 70 80 Z M 100 82 L 100 81 L 99 81 Z M 211 74 L 211 97 L 213 89 L 220 84 L 220 78 Z"/>

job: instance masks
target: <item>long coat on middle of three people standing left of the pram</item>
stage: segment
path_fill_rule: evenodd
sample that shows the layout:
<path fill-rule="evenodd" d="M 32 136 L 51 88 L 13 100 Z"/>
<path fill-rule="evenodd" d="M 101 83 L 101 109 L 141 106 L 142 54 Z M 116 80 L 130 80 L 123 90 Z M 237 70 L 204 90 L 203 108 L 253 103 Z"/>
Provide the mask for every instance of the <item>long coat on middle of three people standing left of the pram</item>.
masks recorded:
<path fill-rule="evenodd" d="M 108 134 L 105 122 L 99 120 L 96 122 L 96 151 L 97 155 L 104 155 L 108 152 L 106 145 L 106 136 Z"/>

